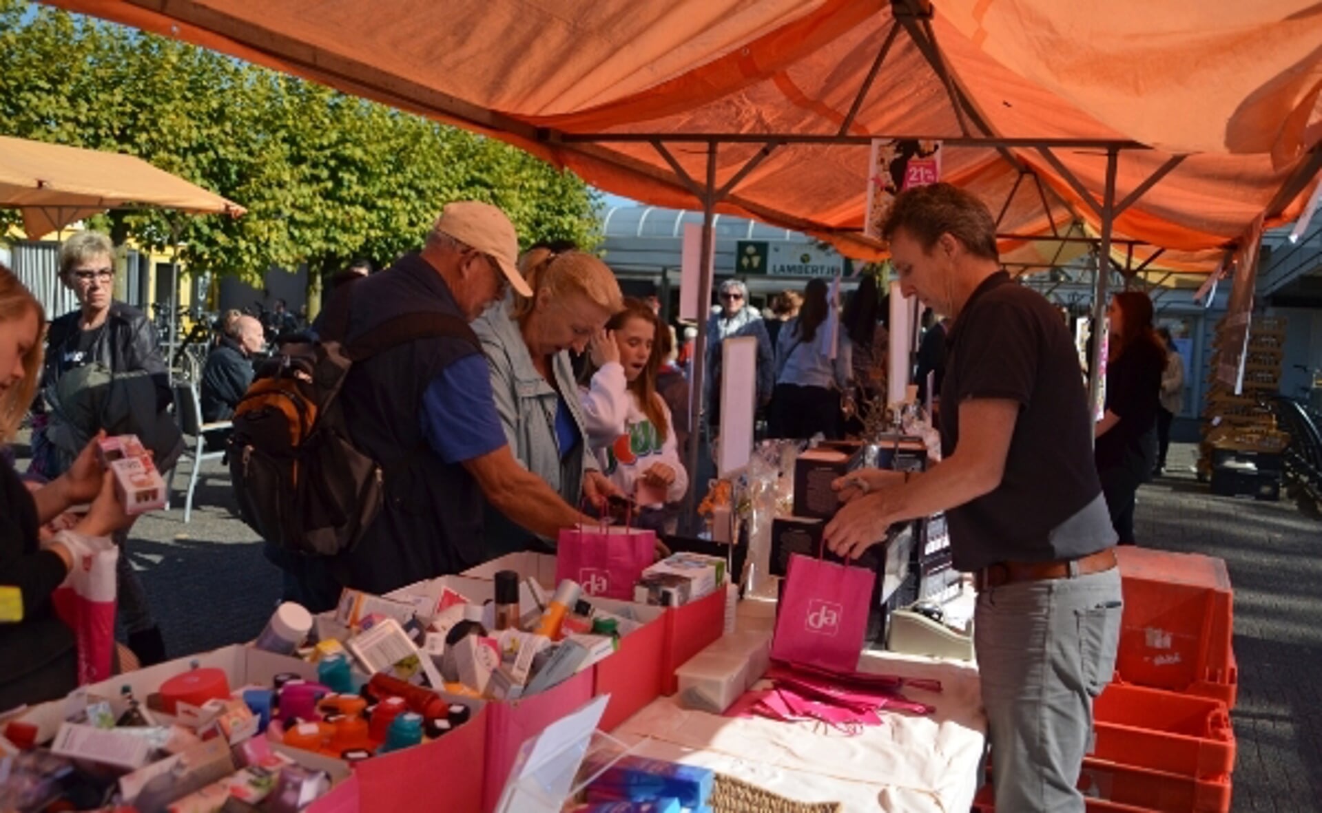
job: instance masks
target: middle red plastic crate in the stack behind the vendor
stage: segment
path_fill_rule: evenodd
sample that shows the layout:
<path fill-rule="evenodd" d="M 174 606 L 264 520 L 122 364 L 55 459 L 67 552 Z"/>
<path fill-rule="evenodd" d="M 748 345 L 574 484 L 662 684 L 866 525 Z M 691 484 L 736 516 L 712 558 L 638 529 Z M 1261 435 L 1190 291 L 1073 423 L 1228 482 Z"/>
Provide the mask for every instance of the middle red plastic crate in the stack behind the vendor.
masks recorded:
<path fill-rule="evenodd" d="M 1112 683 L 1093 705 L 1089 756 L 1190 777 L 1235 768 L 1235 732 L 1220 701 Z"/>

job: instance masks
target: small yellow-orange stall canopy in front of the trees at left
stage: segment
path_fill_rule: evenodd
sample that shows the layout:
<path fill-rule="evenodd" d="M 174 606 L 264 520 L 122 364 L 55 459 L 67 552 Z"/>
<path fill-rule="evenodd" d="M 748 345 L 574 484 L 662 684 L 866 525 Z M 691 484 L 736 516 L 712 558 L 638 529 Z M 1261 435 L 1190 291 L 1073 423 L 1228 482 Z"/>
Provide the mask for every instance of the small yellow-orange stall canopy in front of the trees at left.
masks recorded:
<path fill-rule="evenodd" d="M 131 155 L 0 136 L 0 206 L 36 239 L 120 206 L 241 215 L 245 209 Z"/>

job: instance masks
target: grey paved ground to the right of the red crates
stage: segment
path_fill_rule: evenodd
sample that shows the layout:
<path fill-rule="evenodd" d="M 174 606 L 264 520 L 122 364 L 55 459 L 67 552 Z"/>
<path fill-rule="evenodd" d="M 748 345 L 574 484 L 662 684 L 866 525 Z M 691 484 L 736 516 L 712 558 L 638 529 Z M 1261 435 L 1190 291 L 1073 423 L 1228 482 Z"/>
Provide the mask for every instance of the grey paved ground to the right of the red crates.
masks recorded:
<path fill-rule="evenodd" d="M 1212 496 L 1173 447 L 1138 492 L 1140 543 L 1225 559 L 1235 586 L 1233 810 L 1322 810 L 1322 522 L 1286 502 Z M 1177 472 L 1177 468 L 1185 472 Z"/>

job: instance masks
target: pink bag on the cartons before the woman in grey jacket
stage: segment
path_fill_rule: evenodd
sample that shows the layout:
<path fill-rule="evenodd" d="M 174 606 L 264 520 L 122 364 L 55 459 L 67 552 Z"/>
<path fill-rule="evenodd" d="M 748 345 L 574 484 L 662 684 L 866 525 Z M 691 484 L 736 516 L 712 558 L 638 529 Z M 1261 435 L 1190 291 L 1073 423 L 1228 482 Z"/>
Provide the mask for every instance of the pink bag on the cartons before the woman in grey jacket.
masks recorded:
<path fill-rule="evenodd" d="M 561 530 L 555 553 L 555 582 L 571 579 L 583 596 L 633 600 L 633 586 L 656 559 L 654 531 L 613 525 Z"/>

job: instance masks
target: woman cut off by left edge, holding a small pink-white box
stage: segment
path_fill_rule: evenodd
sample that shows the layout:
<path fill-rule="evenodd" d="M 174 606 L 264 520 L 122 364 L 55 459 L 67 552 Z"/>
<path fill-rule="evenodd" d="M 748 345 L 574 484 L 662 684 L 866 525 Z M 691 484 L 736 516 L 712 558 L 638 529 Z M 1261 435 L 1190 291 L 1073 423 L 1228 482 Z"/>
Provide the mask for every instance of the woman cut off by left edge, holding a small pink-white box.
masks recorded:
<path fill-rule="evenodd" d="M 41 327 L 36 297 L 0 266 L 0 444 L 13 440 L 32 405 L 41 374 Z M 73 526 L 82 537 L 128 527 L 115 496 L 115 477 L 97 461 L 98 434 L 62 475 L 33 492 L 9 463 L 0 463 L 0 713 L 58 699 L 78 686 L 74 633 L 61 621 L 50 595 L 69 575 L 81 545 L 41 526 L 69 508 L 91 502 Z M 5 447 L 8 448 L 8 447 Z"/>

